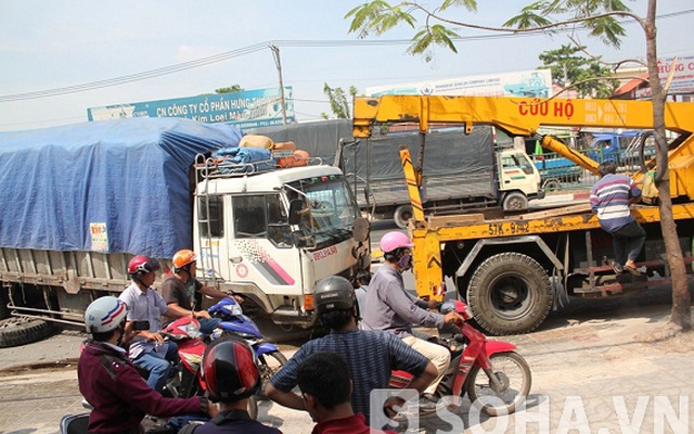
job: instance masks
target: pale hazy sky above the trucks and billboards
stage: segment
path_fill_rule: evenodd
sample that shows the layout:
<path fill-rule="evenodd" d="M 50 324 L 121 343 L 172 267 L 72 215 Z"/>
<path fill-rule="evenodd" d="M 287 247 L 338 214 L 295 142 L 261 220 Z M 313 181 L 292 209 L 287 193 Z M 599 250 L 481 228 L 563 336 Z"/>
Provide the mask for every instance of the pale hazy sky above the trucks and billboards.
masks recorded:
<path fill-rule="evenodd" d="M 645 16 L 646 0 L 624 0 Z M 503 36 L 461 30 L 458 54 L 433 59 L 406 53 L 414 30 L 401 27 L 359 40 L 345 15 L 363 0 L 0 0 L 0 131 L 87 122 L 87 108 L 195 97 L 239 85 L 279 87 L 271 43 L 280 50 L 299 122 L 330 113 L 323 85 L 360 92 L 372 86 L 534 69 L 538 55 L 569 43 L 566 34 Z M 440 2 L 440 1 L 439 1 Z M 438 4 L 439 2 L 429 2 Z M 487 26 L 503 22 L 529 0 L 478 0 L 476 14 L 457 18 Z M 694 55 L 694 0 L 658 1 L 658 56 Z M 586 33 L 579 39 L 603 60 L 644 59 L 640 26 L 625 23 L 620 49 Z M 48 98 L 7 98 L 80 86 L 204 60 L 204 66 L 119 86 Z M 214 61 L 214 59 L 213 59 Z"/>

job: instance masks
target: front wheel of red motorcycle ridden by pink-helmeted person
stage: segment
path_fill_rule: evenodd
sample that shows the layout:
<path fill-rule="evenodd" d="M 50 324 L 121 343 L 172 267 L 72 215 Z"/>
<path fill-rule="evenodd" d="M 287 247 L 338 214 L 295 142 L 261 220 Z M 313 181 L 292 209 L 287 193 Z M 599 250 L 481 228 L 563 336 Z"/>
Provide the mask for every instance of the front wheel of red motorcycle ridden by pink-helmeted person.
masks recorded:
<path fill-rule="evenodd" d="M 473 406 L 477 406 L 486 414 L 511 414 L 530 393 L 530 367 L 515 352 L 497 353 L 489 359 L 491 371 L 502 385 L 501 390 L 496 391 L 485 370 L 474 366 L 466 382 L 467 396 Z"/>

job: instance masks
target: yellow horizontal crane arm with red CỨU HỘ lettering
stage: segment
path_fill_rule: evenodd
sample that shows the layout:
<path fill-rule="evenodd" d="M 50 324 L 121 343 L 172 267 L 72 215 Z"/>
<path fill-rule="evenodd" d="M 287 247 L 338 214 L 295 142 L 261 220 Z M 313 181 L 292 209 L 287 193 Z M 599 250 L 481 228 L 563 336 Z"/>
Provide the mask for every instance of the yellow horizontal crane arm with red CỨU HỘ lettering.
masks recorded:
<path fill-rule="evenodd" d="M 496 125 L 513 135 L 532 136 L 541 125 L 564 127 L 653 128 L 650 101 L 540 100 L 507 97 L 383 95 L 355 98 L 354 135 L 368 138 L 378 123 L 414 122 L 422 132 L 428 124 Z M 665 127 L 694 132 L 694 104 L 669 102 Z"/>

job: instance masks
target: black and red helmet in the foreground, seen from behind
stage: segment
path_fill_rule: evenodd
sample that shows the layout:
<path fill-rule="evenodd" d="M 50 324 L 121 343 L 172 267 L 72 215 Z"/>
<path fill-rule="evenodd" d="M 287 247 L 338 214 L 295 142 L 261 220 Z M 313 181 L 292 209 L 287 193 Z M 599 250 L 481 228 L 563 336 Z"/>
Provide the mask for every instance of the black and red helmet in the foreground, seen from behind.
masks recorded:
<path fill-rule="evenodd" d="M 235 403 L 260 387 L 255 352 L 245 341 L 234 336 L 214 341 L 205 349 L 202 375 L 214 401 Z"/>

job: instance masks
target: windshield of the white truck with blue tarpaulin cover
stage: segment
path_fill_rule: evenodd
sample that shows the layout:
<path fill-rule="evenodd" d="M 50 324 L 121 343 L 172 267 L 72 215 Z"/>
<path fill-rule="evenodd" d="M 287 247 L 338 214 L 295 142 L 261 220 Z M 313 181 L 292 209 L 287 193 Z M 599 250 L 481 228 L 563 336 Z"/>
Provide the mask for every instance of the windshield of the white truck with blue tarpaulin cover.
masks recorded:
<path fill-rule="evenodd" d="M 310 204 L 316 243 L 342 241 L 351 237 L 358 208 L 342 177 L 305 180 L 301 190 Z"/>

